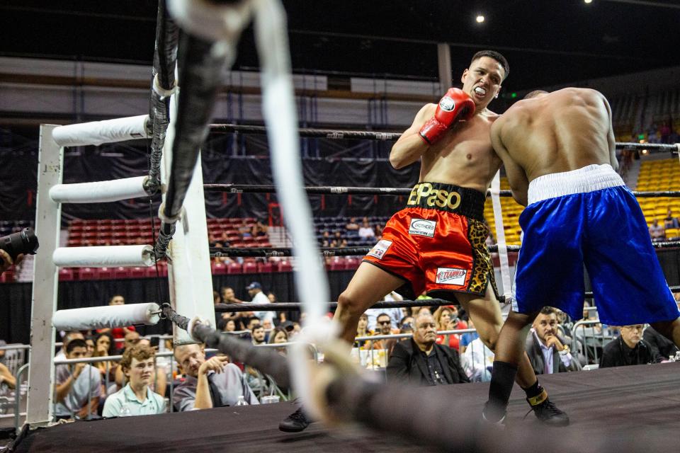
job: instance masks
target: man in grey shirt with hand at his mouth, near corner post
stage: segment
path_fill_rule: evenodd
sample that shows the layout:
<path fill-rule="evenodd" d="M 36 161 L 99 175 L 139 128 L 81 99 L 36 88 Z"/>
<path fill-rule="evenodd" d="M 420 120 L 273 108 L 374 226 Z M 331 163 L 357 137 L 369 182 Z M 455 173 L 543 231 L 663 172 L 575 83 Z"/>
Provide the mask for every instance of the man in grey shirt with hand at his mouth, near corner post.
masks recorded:
<path fill-rule="evenodd" d="M 227 357 L 216 355 L 205 360 L 205 346 L 197 344 L 178 345 L 174 355 L 186 374 L 172 395 L 178 411 L 234 406 L 239 396 L 246 403 L 259 404 L 239 367 L 227 363 Z"/>

